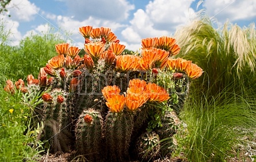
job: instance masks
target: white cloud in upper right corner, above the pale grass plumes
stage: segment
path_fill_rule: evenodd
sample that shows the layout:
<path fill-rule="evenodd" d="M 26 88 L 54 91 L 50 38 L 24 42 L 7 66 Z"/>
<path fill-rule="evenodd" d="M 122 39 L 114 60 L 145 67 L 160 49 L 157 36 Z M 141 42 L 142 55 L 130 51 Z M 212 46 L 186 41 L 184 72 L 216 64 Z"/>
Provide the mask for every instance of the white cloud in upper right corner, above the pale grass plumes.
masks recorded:
<path fill-rule="evenodd" d="M 204 7 L 210 17 L 215 16 L 220 23 L 250 20 L 256 16 L 256 1 L 205 0 Z"/>

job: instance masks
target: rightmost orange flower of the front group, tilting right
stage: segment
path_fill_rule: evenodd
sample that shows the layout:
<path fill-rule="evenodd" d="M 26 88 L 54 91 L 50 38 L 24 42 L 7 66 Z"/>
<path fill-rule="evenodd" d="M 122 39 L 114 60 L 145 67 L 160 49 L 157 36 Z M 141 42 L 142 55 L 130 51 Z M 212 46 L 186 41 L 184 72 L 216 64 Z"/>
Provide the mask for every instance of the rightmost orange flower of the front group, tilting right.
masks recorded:
<path fill-rule="evenodd" d="M 150 101 L 163 102 L 169 100 L 169 93 L 164 88 L 156 85 L 155 83 L 148 83 L 146 86 L 146 92 Z"/>

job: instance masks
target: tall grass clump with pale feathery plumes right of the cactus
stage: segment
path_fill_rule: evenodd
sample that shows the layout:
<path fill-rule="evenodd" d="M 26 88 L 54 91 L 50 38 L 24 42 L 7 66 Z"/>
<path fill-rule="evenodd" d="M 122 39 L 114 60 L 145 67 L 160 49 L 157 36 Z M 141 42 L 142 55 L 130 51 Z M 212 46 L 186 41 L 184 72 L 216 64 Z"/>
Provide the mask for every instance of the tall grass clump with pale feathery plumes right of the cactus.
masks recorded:
<path fill-rule="evenodd" d="M 217 95 L 231 82 L 237 91 L 252 86 L 256 65 L 253 27 L 240 29 L 226 22 L 222 30 L 215 29 L 211 19 L 204 17 L 177 30 L 175 38 L 181 46 L 179 56 L 192 60 L 204 70 L 204 77 L 194 82 L 198 87 L 201 85 L 201 90 Z"/>

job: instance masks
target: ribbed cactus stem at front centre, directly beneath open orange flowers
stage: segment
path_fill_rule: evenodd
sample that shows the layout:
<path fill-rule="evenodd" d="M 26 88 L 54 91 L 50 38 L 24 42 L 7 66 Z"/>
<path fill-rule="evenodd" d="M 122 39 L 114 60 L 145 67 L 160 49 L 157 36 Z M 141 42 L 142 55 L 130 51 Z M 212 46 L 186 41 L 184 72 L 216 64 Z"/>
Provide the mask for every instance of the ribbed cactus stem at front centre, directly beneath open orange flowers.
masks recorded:
<path fill-rule="evenodd" d="M 105 136 L 112 161 L 128 158 L 128 149 L 133 130 L 133 116 L 128 112 L 109 112 L 105 121 Z"/>

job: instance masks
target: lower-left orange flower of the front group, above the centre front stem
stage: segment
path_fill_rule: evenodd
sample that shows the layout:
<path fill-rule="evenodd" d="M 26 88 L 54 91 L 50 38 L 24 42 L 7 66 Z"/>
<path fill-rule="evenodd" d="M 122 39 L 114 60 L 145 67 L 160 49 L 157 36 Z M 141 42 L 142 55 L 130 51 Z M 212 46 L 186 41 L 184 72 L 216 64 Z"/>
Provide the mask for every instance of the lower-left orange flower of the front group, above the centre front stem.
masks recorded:
<path fill-rule="evenodd" d="M 110 112 L 119 113 L 124 109 L 125 98 L 124 95 L 116 94 L 108 98 L 106 106 L 108 106 Z"/>

